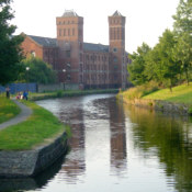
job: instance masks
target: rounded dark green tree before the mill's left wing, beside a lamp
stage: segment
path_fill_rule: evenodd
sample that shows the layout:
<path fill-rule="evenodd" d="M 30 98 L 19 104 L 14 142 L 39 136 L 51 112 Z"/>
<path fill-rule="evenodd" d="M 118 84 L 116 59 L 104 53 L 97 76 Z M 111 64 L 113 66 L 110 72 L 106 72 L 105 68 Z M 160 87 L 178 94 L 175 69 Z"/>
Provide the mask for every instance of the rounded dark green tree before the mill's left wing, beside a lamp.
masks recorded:
<path fill-rule="evenodd" d="M 21 75 L 20 80 L 22 81 L 47 84 L 54 83 L 57 80 L 56 72 L 52 69 L 52 66 L 39 58 L 32 56 L 24 59 L 22 65 L 25 69 L 29 69 Z"/>

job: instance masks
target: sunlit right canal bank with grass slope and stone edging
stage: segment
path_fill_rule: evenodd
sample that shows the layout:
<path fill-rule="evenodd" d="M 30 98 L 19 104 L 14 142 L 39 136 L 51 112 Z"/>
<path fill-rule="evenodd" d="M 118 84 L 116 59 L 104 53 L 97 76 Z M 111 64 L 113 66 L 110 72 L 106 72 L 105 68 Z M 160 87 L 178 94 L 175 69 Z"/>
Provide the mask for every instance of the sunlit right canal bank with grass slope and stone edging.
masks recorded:
<path fill-rule="evenodd" d="M 169 89 L 139 86 L 120 92 L 117 98 L 127 104 L 139 108 L 161 111 L 162 113 L 176 113 L 192 115 L 192 84 L 181 84 Z"/>

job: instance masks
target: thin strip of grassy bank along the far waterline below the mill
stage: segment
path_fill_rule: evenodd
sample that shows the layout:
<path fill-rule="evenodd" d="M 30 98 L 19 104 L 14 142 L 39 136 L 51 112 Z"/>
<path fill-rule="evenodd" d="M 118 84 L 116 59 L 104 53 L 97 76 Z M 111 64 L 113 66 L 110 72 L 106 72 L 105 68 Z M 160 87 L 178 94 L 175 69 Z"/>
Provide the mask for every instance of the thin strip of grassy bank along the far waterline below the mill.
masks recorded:
<path fill-rule="evenodd" d="M 87 94 L 99 94 L 99 93 L 117 93 L 117 89 L 102 89 L 102 90 L 64 90 L 64 91 L 55 91 L 55 92 L 45 92 L 45 93 L 31 93 L 30 100 L 37 101 L 43 99 L 50 98 L 64 98 L 64 97 L 79 97 Z"/>

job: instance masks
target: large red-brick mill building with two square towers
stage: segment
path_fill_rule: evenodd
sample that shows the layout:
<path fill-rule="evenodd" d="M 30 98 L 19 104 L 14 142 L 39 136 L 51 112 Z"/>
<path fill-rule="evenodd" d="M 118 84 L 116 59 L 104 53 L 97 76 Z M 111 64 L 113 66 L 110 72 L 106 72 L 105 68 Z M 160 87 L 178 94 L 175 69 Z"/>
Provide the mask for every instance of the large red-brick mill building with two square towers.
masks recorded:
<path fill-rule="evenodd" d="M 56 18 L 57 37 L 26 35 L 26 57 L 42 58 L 58 74 L 67 89 L 125 88 L 128 54 L 125 52 L 125 16 L 109 16 L 109 45 L 83 42 L 83 18 L 66 11 Z"/>

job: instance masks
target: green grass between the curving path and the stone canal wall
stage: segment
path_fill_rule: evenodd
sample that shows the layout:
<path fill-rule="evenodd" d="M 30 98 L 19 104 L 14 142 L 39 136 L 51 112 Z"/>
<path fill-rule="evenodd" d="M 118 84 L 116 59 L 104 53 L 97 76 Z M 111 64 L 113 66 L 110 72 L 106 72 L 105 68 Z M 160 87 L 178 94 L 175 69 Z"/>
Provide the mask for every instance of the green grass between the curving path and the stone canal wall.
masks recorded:
<path fill-rule="evenodd" d="M 64 131 L 70 135 L 68 125 L 64 125 L 49 111 L 33 102 L 24 101 L 33 110 L 27 121 L 0 131 L 0 150 L 25 150 L 46 142 Z"/>

